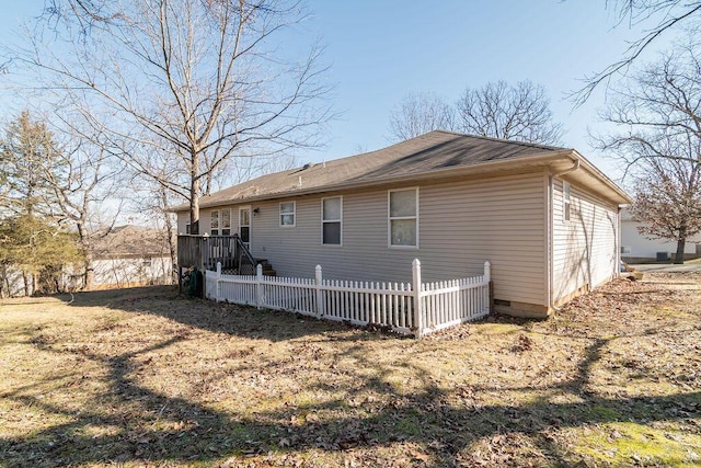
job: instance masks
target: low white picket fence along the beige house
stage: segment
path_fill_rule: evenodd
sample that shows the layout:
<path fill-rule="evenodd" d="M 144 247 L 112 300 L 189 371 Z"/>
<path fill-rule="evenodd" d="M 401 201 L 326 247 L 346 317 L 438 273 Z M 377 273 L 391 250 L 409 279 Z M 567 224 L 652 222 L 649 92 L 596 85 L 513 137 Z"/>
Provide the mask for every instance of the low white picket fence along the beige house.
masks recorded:
<path fill-rule="evenodd" d="M 377 326 L 417 338 L 476 320 L 490 313 L 490 262 L 482 276 L 422 283 L 421 262 L 412 264 L 412 283 L 323 279 L 321 265 L 313 278 L 205 274 L 208 299 L 276 310 L 320 319 Z"/>

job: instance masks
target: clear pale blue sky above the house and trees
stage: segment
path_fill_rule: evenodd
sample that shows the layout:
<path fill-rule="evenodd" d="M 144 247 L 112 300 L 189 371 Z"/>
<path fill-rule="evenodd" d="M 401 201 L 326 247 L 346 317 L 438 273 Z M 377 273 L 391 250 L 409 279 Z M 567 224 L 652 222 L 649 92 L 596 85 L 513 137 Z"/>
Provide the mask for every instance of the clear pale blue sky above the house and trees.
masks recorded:
<path fill-rule="evenodd" d="M 44 5 L 43 0 L 2 3 L 5 43 Z M 329 124 L 327 147 L 300 155 L 300 162 L 389 145 L 390 112 L 410 92 L 433 91 L 455 101 L 467 87 L 529 79 L 550 95 L 554 117 L 566 130 L 563 145 L 612 179 L 620 175 L 587 137 L 588 128 L 605 129 L 596 117 L 605 93 L 576 110 L 565 99 L 582 78 L 616 61 L 627 41 L 640 36 L 640 28 L 614 27 L 604 0 L 309 0 L 308 5 L 312 14 L 296 33 L 325 45 L 327 79 L 335 83 L 331 99 L 341 116 Z M 656 44 L 647 57 L 663 46 Z"/>

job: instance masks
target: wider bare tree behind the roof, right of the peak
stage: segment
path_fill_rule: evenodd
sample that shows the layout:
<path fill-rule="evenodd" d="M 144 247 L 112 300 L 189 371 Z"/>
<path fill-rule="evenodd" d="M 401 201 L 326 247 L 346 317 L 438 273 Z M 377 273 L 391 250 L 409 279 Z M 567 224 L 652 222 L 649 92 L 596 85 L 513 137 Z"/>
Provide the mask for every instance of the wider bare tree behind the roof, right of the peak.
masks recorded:
<path fill-rule="evenodd" d="M 457 109 L 456 126 L 469 134 L 549 145 L 563 134 L 562 124 L 553 122 L 545 89 L 528 80 L 468 88 Z"/>

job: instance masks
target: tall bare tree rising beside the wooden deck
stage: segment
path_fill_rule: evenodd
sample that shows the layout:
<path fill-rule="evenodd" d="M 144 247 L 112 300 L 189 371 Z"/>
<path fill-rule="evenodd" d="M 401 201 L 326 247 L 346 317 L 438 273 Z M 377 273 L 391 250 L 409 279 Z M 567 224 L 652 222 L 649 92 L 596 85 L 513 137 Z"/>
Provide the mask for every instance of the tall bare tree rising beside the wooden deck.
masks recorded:
<path fill-rule="evenodd" d="M 56 0 L 41 23 L 50 41 L 32 30 L 14 62 L 105 128 L 107 151 L 187 199 L 196 233 L 199 196 L 229 158 L 320 142 L 321 50 L 297 60 L 274 42 L 303 19 L 286 0 Z"/>

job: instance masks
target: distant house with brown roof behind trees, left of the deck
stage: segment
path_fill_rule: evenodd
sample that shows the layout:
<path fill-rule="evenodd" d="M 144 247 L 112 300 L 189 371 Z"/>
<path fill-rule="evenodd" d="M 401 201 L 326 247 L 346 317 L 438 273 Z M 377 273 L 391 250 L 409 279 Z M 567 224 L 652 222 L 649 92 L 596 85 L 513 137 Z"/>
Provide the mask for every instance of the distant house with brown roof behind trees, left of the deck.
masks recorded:
<path fill-rule="evenodd" d="M 173 283 L 168 239 L 160 229 L 119 226 L 96 236 L 93 249 L 92 289 Z M 78 287 L 82 278 L 70 276 Z"/>

